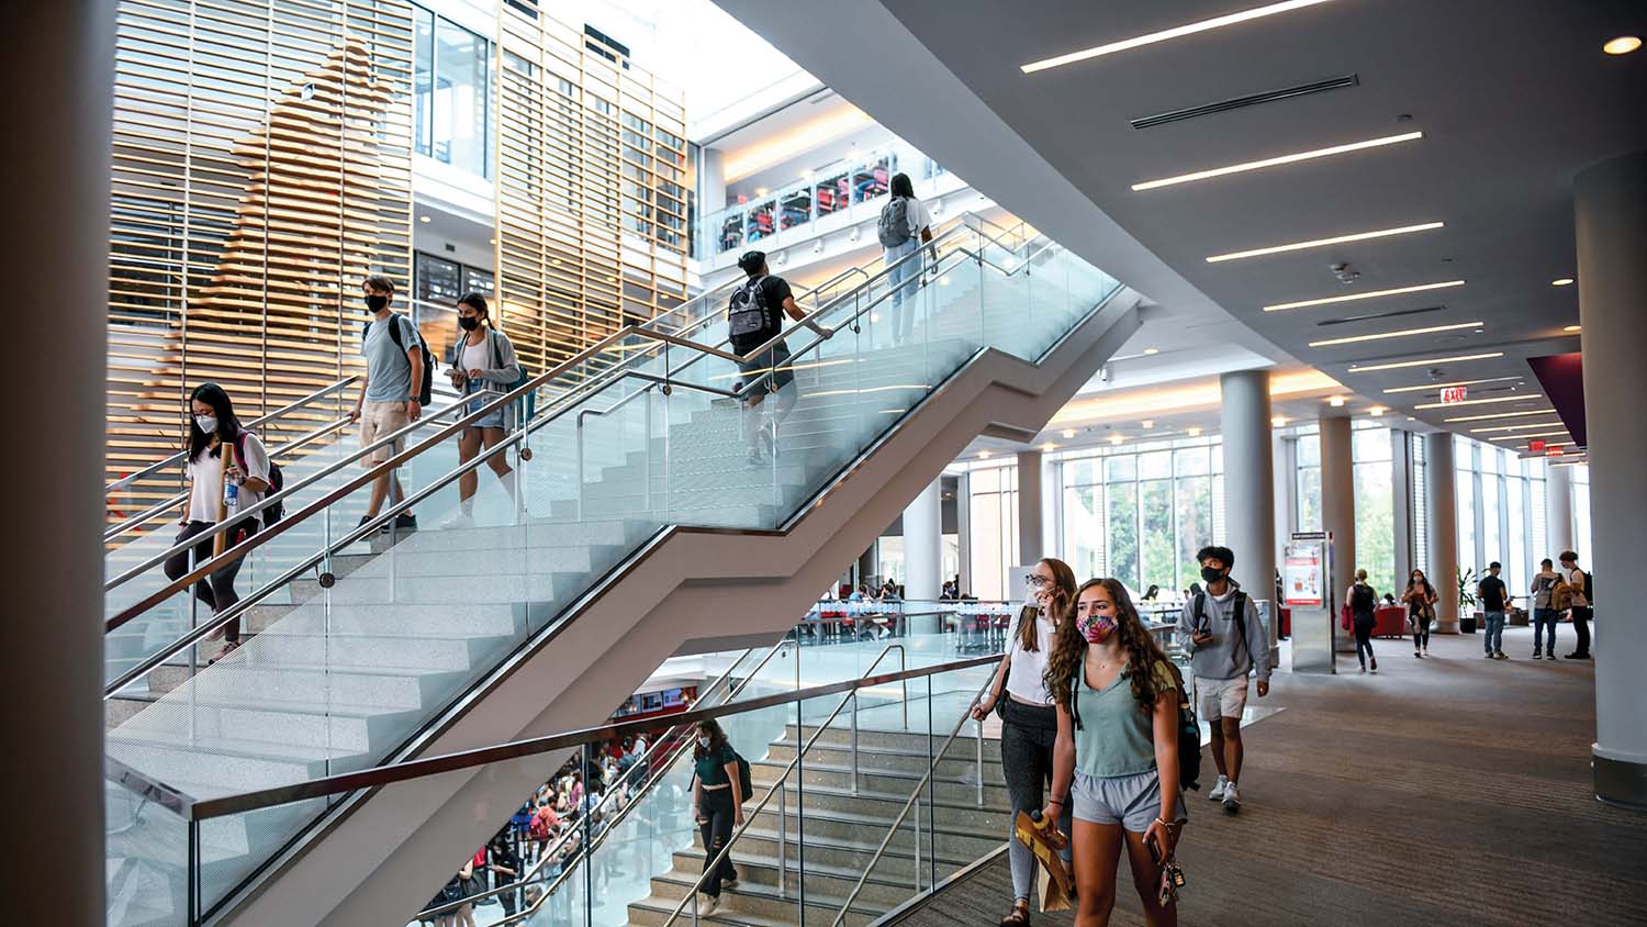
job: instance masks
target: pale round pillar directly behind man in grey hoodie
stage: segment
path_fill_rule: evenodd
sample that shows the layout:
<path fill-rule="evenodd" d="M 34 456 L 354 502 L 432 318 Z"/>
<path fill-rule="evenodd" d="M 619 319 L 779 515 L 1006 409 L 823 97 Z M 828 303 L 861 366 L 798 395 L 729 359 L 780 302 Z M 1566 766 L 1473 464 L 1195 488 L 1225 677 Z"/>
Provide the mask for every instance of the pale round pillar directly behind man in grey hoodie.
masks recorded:
<path fill-rule="evenodd" d="M 1224 431 L 1224 538 L 1234 578 L 1255 599 L 1275 599 L 1275 448 L 1270 445 L 1270 372 L 1219 377 Z M 1280 634 L 1271 603 L 1270 641 Z"/>

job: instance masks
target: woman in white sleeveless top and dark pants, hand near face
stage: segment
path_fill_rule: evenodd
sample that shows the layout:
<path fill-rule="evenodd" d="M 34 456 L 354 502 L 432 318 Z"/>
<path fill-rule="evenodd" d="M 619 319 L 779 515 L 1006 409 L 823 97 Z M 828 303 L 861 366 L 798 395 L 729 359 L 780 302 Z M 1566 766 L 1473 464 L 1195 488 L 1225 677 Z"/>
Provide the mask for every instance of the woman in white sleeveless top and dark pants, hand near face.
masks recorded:
<path fill-rule="evenodd" d="M 1062 560 L 1047 558 L 1034 565 L 1028 583 L 1029 596 L 1006 631 L 1006 654 L 995 670 L 995 682 L 972 708 L 972 718 L 980 723 L 990 711 L 1001 710 L 1001 772 L 1006 774 L 1006 794 L 1013 802 L 1013 822 L 1018 820 L 1018 812 L 1041 807 L 1052 777 L 1057 710 L 1046 688 L 1046 665 L 1059 622 L 1069 621 L 1075 604 L 1075 571 Z M 1067 810 L 1062 827 L 1069 828 Z M 1001 927 L 1024 927 L 1029 924 L 1034 853 L 1011 833 L 1006 840 L 1006 858 L 1013 871 L 1013 911 L 1001 917 Z"/>

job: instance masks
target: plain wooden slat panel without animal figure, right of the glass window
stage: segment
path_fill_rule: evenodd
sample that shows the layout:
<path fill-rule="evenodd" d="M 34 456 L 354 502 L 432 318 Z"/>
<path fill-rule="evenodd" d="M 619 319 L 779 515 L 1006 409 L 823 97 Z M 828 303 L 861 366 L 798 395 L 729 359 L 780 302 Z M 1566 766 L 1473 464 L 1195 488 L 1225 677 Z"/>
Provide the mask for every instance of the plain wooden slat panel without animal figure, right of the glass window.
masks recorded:
<path fill-rule="evenodd" d="M 685 300 L 679 91 L 502 3 L 497 293 L 534 370 Z"/>

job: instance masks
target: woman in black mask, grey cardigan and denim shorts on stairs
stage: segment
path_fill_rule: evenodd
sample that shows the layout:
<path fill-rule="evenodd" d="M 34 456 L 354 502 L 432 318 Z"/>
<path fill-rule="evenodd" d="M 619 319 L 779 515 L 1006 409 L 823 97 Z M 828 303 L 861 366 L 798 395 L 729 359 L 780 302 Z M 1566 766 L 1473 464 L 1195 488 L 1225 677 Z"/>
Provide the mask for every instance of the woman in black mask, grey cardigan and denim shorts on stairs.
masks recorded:
<path fill-rule="evenodd" d="M 520 379 L 520 361 L 516 357 L 514 342 L 509 341 L 509 336 L 492 324 L 486 296 L 468 293 L 458 300 L 458 328 L 463 329 L 463 336 L 451 349 L 451 369 L 446 370 L 446 377 L 451 379 L 451 389 L 476 397 L 463 410 L 464 413 L 473 413 L 509 392 L 509 387 Z M 496 448 L 504 440 L 504 435 L 516 426 L 519 417 L 516 412 L 517 405 L 511 402 L 466 426 L 458 435 L 458 463 L 466 464 L 473 461 L 483 446 L 486 450 Z M 509 466 L 509 454 L 492 454 L 486 458 L 486 466 L 492 468 L 492 473 L 497 474 L 497 482 L 504 486 L 509 492 L 509 501 L 514 502 L 516 473 Z M 473 469 L 458 477 L 458 512 L 441 522 L 441 529 L 474 527 L 474 491 L 479 489 L 479 473 Z"/>

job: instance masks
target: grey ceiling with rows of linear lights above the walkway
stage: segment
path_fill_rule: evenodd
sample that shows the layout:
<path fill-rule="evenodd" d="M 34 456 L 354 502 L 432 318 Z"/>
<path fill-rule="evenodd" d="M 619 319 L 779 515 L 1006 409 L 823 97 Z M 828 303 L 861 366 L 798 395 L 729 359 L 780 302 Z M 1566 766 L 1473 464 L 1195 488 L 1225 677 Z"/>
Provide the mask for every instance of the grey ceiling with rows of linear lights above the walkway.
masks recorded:
<path fill-rule="evenodd" d="M 809 41 L 825 13 L 804 0 L 718 2 L 870 115 L 1171 306 L 1179 319 L 1225 326 L 1212 344 L 1183 321 L 1146 333 L 1163 357 L 1174 346 L 1220 352 L 1220 344 L 1234 344 L 1283 362 L 1299 359 L 1367 402 L 1461 431 L 1469 423 L 1444 422 L 1458 412 L 1413 408 L 1433 402 L 1433 394 L 1382 392 L 1435 382 L 1428 364 L 1369 374 L 1347 367 L 1504 352 L 1436 364 L 1439 380 L 1463 380 L 1527 375 L 1527 357 L 1576 351 L 1578 338 L 1561 329 L 1578 323 L 1578 288 L 1550 285 L 1575 275 L 1571 178 L 1598 160 L 1647 148 L 1647 51 L 1601 53 L 1607 38 L 1647 33 L 1644 3 L 1334 0 L 1023 74 L 1023 63 L 1262 0 L 842 0 L 827 16 L 865 28 L 853 41 L 828 43 Z M 1355 74 L 1359 86 L 1143 130 L 1128 122 L 1342 74 Z M 1425 138 L 1130 189 L 1138 181 L 1413 130 Z M 1080 206 L 1100 216 L 1080 214 Z M 1206 262 L 1214 254 L 1430 221 L 1446 227 Z M 1349 262 L 1360 277 L 1341 285 L 1329 272 L 1336 262 Z M 1467 283 L 1262 311 L 1271 303 L 1443 280 Z M 1318 324 L 1431 306 L 1443 308 Z M 1229 324 L 1232 318 L 1239 324 Z M 1482 321 L 1482 331 L 1308 346 L 1464 321 Z M 1141 346 L 1133 339 L 1127 351 Z M 1528 384 L 1537 389 L 1530 377 Z"/>

